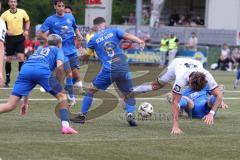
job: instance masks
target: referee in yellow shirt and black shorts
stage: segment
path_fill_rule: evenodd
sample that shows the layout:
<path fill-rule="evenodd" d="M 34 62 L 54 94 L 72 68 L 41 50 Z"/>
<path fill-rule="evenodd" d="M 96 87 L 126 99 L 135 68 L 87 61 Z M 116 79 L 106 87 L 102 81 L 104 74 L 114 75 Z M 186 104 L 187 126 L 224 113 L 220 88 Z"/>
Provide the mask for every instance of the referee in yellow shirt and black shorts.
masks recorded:
<path fill-rule="evenodd" d="M 24 63 L 24 36 L 29 35 L 30 28 L 29 16 L 25 10 L 17 8 L 17 0 L 8 0 L 8 5 L 9 9 L 1 15 L 1 18 L 5 21 L 7 26 L 7 35 L 5 39 L 7 57 L 5 64 L 5 87 L 9 87 L 13 55 L 17 54 L 19 71 Z"/>

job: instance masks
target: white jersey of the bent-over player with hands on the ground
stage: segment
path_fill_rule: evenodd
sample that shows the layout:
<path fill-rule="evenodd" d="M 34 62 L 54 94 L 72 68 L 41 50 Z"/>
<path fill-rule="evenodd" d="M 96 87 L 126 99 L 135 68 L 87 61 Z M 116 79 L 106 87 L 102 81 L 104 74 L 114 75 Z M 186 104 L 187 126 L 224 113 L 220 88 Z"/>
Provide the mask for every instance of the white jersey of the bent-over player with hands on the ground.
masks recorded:
<path fill-rule="evenodd" d="M 181 94 L 182 89 L 188 85 L 189 75 L 192 72 L 204 73 L 210 90 L 218 86 L 211 73 L 203 68 L 202 63 L 190 58 L 174 59 L 167 67 L 166 73 L 160 76 L 158 81 L 160 83 L 170 83 L 175 80 L 172 91 Z"/>

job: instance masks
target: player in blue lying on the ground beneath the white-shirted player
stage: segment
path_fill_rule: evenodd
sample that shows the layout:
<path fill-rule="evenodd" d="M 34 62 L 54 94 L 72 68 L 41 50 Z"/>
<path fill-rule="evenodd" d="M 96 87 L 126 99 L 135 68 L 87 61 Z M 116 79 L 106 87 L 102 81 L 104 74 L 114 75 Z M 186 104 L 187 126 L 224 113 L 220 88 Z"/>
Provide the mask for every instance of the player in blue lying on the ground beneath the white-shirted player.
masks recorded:
<path fill-rule="evenodd" d="M 223 90 L 223 85 L 219 86 L 221 91 Z M 167 100 L 169 103 L 172 101 L 172 93 L 167 95 Z M 182 98 L 180 99 L 178 106 L 181 111 L 185 111 L 190 118 L 204 118 L 212 109 L 216 97 L 211 95 L 211 90 L 208 86 L 205 86 L 200 91 L 193 90 L 191 88 L 186 88 L 182 91 Z M 222 109 L 228 108 L 228 106 L 222 102 L 219 106 Z"/>

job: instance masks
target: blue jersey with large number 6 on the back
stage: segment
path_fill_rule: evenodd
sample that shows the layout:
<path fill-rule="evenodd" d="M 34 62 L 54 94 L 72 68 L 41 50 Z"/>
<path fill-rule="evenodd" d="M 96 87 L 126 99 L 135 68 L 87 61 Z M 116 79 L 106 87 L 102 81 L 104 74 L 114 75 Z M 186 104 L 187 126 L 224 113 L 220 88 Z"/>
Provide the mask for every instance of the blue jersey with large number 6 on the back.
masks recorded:
<path fill-rule="evenodd" d="M 105 69 L 111 71 L 127 69 L 127 59 L 120 48 L 124 33 L 123 30 L 118 28 L 106 28 L 95 33 L 88 42 L 87 48 L 95 50 Z"/>

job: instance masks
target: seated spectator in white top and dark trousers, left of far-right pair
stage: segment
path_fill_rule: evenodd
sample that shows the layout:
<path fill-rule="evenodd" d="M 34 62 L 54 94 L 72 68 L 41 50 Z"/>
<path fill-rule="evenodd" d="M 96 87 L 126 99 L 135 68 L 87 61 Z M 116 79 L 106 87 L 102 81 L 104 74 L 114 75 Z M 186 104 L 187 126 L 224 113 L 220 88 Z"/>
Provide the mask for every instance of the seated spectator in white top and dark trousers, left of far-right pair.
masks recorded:
<path fill-rule="evenodd" d="M 226 43 L 223 44 L 223 47 L 221 49 L 220 57 L 218 59 L 218 69 L 224 71 L 232 70 L 231 51 Z"/>

